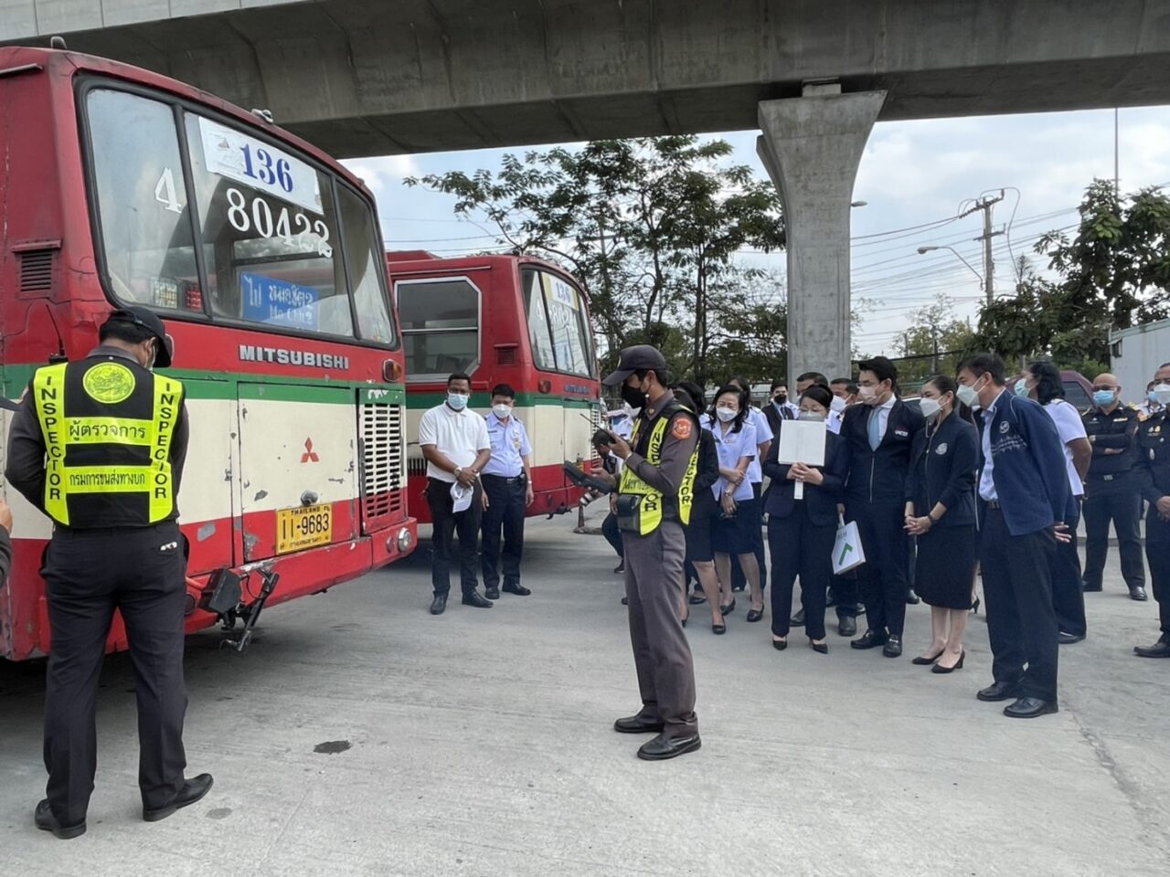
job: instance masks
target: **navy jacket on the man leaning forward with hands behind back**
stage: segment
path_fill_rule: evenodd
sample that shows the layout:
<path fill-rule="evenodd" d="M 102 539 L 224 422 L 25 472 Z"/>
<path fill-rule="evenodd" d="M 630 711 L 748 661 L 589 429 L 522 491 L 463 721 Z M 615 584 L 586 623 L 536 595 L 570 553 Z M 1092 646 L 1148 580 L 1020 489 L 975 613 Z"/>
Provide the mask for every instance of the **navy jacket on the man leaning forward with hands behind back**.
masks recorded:
<path fill-rule="evenodd" d="M 980 477 L 985 464 L 982 438 L 990 429 L 991 477 L 1007 531 L 1025 536 L 1046 530 L 1064 520 L 1069 510 L 1068 467 L 1060 435 L 1048 413 L 1031 399 L 1004 391 L 994 409 L 991 423 L 976 415 L 982 421 Z"/>

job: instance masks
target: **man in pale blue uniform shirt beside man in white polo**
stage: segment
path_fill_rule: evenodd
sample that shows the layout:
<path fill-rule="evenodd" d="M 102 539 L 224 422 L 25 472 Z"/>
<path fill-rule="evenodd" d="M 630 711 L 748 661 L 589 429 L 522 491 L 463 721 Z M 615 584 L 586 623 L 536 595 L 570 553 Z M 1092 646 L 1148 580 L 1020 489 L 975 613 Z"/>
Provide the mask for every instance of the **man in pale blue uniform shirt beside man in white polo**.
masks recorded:
<path fill-rule="evenodd" d="M 491 460 L 483 467 L 483 587 L 488 600 L 500 599 L 500 532 L 503 531 L 504 591 L 528 596 L 519 583 L 524 553 L 524 515 L 532 504 L 532 446 L 524 424 L 512 416 L 516 391 L 500 384 L 491 391 L 487 415 Z"/>

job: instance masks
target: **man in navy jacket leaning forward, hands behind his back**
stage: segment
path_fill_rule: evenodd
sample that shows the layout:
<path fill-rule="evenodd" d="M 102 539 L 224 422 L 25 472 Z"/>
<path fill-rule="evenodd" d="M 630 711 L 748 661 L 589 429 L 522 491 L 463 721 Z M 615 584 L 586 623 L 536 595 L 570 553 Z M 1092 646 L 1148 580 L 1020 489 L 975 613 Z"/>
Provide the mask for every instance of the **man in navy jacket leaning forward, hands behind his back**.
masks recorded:
<path fill-rule="evenodd" d="M 1044 408 L 1004 388 L 1004 362 L 990 353 L 958 370 L 958 398 L 982 407 L 979 562 L 987 603 L 994 683 L 980 700 L 1016 702 L 1012 718 L 1057 712 L 1058 624 L 1048 558 L 1068 539 L 1068 471 Z"/>

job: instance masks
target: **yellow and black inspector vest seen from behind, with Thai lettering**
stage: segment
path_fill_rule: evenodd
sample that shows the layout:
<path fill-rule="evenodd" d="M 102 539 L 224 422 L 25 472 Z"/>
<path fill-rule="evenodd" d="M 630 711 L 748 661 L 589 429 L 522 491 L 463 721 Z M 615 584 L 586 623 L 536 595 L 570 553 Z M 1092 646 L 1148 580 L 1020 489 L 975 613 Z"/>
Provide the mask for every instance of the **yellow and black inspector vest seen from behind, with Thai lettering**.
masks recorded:
<path fill-rule="evenodd" d="M 171 440 L 184 389 L 158 374 L 144 386 L 140 374 L 110 359 L 46 366 L 33 375 L 47 450 L 44 511 L 56 523 L 147 526 L 174 513 Z M 113 515 L 111 498 L 98 496 L 111 493 Z"/>

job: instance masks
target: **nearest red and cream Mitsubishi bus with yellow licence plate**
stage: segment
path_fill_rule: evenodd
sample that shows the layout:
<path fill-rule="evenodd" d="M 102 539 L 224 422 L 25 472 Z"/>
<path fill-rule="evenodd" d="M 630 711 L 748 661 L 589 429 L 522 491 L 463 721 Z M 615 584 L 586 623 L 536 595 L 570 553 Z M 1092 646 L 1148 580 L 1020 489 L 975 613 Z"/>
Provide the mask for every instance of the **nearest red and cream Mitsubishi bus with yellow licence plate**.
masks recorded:
<path fill-rule="evenodd" d="M 165 76 L 16 47 L 0 48 L 0 156 L 4 395 L 50 359 L 84 357 L 121 304 L 151 308 L 174 339 L 168 373 L 191 422 L 188 631 L 250 623 L 266 591 L 271 606 L 412 550 L 402 350 L 356 177 Z M 15 557 L 0 655 L 23 660 L 50 648 L 37 571 L 51 527 L 5 495 Z M 108 645 L 125 647 L 118 620 Z"/>

